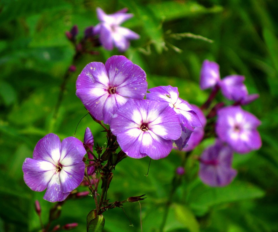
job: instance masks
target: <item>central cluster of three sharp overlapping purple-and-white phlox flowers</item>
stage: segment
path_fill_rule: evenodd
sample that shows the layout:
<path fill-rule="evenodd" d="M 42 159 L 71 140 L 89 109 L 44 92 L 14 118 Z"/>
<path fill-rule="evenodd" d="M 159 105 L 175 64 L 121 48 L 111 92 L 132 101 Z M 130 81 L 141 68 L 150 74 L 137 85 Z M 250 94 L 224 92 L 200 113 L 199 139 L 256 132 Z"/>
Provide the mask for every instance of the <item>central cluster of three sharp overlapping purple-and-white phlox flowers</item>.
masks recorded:
<path fill-rule="evenodd" d="M 86 65 L 76 89 L 90 114 L 110 125 L 123 152 L 133 158 L 164 158 L 173 142 L 182 149 L 201 126 L 193 107 L 178 97 L 177 87 L 159 86 L 146 94 L 146 73 L 124 56 L 112 56 L 105 65 Z"/>

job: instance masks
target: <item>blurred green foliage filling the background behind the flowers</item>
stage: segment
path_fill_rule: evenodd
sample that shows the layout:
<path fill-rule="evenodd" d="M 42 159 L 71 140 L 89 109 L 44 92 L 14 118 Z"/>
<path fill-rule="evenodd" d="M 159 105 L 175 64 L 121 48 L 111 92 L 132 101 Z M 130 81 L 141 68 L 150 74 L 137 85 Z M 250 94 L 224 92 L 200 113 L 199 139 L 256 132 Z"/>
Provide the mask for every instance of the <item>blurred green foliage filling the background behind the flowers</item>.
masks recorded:
<path fill-rule="evenodd" d="M 72 63 L 74 48 L 65 31 L 73 25 L 83 30 L 97 24 L 96 7 L 112 13 L 128 7 L 135 17 L 124 26 L 140 34 L 126 57 L 147 73 L 150 87 L 179 87 L 180 97 L 201 105 L 209 91 L 199 89 L 199 71 L 204 59 L 220 65 L 221 76 L 241 74 L 249 92 L 260 98 L 244 107 L 261 121 L 263 146 L 247 155 L 235 155 L 238 170 L 234 182 L 224 188 L 205 186 L 197 177 L 198 164 L 186 163 L 186 175 L 170 204 L 164 231 L 178 232 L 270 232 L 278 231 L 278 27 L 275 0 L 2 0 L 0 1 L 0 231 L 39 231 L 34 211 L 38 199 L 43 222 L 51 203 L 43 193 L 31 191 L 23 182 L 22 163 L 32 157 L 37 141 L 47 133 L 61 139 L 73 136 L 86 114 L 75 96 L 75 81 L 92 61 L 105 62 L 111 52 L 97 48 L 99 55 L 84 55 L 66 85 L 57 112 L 60 85 Z M 203 37 L 175 36 L 192 33 Z M 201 39 L 200 39 L 201 38 Z M 202 39 L 203 38 L 203 39 Z M 210 43 L 210 39 L 213 43 Z M 221 95 L 217 95 L 223 100 Z M 54 117 L 57 114 L 57 117 Z M 75 136 L 80 140 L 90 127 L 99 144 L 105 134 L 89 116 L 81 120 Z M 193 152 L 201 154 L 205 140 Z M 146 194 L 141 202 L 143 231 L 159 231 L 176 167 L 184 154 L 173 151 L 151 163 L 148 158 L 124 159 L 117 165 L 108 192 L 110 201 Z M 193 156 L 192 156 L 193 157 Z M 80 191 L 87 190 L 79 187 Z M 104 213 L 104 231 L 141 231 L 139 204 Z M 72 231 L 86 231 L 86 215 L 93 199 L 69 200 L 56 224 L 78 222 Z M 55 224 L 53 224 L 54 226 Z"/>

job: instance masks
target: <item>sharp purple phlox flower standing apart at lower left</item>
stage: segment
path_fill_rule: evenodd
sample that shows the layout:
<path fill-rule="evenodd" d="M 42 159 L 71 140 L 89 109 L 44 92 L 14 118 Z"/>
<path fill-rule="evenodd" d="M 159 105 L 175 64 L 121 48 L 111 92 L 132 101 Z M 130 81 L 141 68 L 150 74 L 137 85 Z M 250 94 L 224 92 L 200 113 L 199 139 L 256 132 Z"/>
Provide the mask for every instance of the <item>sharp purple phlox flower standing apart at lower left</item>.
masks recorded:
<path fill-rule="evenodd" d="M 46 190 L 43 199 L 63 201 L 83 180 L 86 151 L 83 143 L 74 137 L 62 143 L 55 134 L 44 136 L 34 148 L 33 159 L 23 162 L 23 178 L 33 191 Z"/>

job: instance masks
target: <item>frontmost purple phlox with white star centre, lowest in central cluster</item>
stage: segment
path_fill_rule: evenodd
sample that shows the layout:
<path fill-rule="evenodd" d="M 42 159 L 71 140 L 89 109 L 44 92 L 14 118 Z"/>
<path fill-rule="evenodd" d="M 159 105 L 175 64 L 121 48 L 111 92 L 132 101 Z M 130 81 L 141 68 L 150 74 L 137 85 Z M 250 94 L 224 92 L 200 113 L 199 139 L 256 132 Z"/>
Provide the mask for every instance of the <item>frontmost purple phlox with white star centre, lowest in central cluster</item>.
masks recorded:
<path fill-rule="evenodd" d="M 172 150 L 172 139 L 181 136 L 179 117 L 168 104 L 144 99 L 130 99 L 119 108 L 110 129 L 132 158 L 164 158 Z"/>

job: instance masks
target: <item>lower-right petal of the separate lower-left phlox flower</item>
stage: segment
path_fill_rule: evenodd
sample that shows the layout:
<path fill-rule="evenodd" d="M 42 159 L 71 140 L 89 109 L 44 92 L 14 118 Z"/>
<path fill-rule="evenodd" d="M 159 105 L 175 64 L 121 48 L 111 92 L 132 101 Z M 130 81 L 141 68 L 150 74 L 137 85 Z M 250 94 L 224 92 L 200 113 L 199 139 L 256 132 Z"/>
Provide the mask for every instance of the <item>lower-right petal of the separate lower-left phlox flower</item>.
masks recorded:
<path fill-rule="evenodd" d="M 84 162 L 66 166 L 60 171 L 60 181 L 63 193 L 68 193 L 79 186 L 84 177 Z"/>

